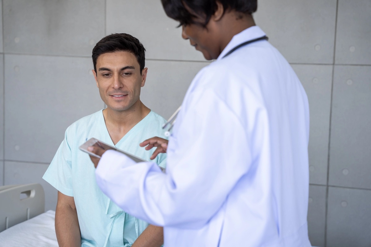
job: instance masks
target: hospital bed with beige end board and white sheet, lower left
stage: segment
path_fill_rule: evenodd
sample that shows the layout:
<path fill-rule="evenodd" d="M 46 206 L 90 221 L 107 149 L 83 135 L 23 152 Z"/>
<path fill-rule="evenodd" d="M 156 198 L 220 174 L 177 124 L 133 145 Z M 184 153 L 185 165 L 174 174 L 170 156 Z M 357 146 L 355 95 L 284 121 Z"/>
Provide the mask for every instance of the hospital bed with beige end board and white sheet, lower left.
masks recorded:
<path fill-rule="evenodd" d="M 0 246 L 58 247 L 55 211 L 44 204 L 40 184 L 0 186 Z"/>

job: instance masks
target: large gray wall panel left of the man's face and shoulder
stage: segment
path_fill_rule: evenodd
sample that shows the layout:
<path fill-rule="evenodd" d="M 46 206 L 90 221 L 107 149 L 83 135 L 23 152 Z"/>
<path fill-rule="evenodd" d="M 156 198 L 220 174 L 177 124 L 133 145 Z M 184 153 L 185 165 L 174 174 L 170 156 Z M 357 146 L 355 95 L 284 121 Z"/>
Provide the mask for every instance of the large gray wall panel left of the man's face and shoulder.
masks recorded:
<path fill-rule="evenodd" d="M 6 160 L 49 163 L 66 128 L 102 109 L 92 68 L 90 58 L 5 55 Z"/>

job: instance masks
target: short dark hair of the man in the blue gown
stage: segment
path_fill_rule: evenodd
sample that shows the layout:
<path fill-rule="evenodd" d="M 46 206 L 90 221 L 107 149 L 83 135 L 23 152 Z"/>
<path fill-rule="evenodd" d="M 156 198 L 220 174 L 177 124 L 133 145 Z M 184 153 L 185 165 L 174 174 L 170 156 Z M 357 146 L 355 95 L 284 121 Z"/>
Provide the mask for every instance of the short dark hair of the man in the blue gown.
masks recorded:
<path fill-rule="evenodd" d="M 145 66 L 145 49 L 137 38 L 127 33 L 110 34 L 96 43 L 92 52 L 95 73 L 98 57 L 104 53 L 115 51 L 127 51 L 134 54 L 140 66 L 140 73 L 142 73 Z"/>

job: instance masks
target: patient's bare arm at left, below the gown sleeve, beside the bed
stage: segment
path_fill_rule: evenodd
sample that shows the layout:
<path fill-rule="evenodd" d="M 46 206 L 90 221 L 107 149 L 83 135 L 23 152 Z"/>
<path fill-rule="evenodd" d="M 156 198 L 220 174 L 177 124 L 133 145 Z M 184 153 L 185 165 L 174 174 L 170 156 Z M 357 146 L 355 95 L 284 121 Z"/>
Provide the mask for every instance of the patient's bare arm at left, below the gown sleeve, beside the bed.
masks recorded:
<path fill-rule="evenodd" d="M 81 247 L 80 226 L 77 218 L 75 200 L 58 191 L 55 210 L 55 233 L 59 247 Z"/>

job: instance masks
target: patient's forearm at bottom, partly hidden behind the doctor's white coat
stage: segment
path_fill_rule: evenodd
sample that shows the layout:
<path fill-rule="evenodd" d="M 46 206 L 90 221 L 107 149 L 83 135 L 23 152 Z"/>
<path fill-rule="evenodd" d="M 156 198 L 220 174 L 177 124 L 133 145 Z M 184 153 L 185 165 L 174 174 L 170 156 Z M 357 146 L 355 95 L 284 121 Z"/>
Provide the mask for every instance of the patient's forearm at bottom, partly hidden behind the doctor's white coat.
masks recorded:
<path fill-rule="evenodd" d="M 160 247 L 164 243 L 164 230 L 160 226 L 149 225 L 131 247 Z"/>

